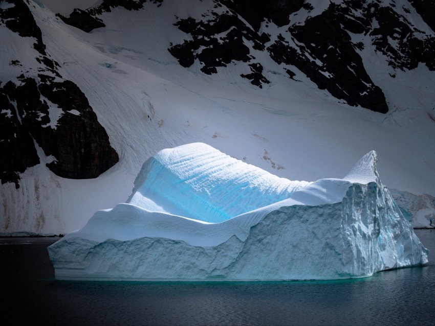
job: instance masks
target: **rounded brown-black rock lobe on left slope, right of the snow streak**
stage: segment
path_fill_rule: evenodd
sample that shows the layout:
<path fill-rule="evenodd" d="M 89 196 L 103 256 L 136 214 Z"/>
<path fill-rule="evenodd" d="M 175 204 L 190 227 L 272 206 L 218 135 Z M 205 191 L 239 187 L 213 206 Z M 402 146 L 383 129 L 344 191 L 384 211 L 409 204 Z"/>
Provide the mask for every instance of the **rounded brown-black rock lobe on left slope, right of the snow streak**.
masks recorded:
<path fill-rule="evenodd" d="M 69 80 L 51 81 L 40 84 L 39 91 L 63 111 L 54 139 L 43 148 L 57 158 L 48 164 L 50 170 L 65 178 L 88 179 L 116 164 L 118 154 L 76 84 Z"/>

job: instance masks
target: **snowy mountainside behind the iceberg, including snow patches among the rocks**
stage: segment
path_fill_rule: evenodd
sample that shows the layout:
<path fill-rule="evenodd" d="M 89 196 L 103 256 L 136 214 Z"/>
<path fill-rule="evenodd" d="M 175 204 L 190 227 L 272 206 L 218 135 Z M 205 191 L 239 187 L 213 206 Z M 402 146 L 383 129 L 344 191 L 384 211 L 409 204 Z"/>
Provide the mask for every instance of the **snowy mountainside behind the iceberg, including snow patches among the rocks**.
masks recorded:
<path fill-rule="evenodd" d="M 292 12 L 289 22 L 285 19 L 286 24 L 273 15 L 273 8 L 263 10 L 270 13 L 267 17 L 263 16 L 265 20 L 261 16 L 254 19 L 246 16 L 242 7 L 231 8 L 229 2 L 224 1 L 204 0 L 195 3 L 195 6 L 184 0 L 140 1 L 134 2 L 135 6 L 140 6 L 137 10 L 111 7 L 115 2 L 104 2 L 110 11 L 85 11 L 89 16 L 100 19 L 105 26 L 91 32 L 65 24 L 41 1 L 4 0 L 0 2 L 1 15 L 18 3 L 29 8 L 41 31 L 46 57 L 58 63 L 59 66 L 54 67 L 62 81 L 77 85 L 89 102 L 89 107 L 96 113 L 110 145 L 119 155 L 119 162 L 94 179 L 67 179 L 49 169 L 54 159 L 60 160 L 45 149 L 45 143 L 37 136 L 40 131 L 34 133 L 36 136 L 29 131 L 23 132 L 23 135 L 17 132 L 16 137 L 14 132 L 8 133 L 0 142 L 2 162 L 15 162 L 6 167 L 7 172 L 18 172 L 19 188 L 16 189 L 14 183 L 5 182 L 2 178 L 2 232 L 63 234 L 82 227 L 98 209 L 114 207 L 126 201 L 136 174 L 149 157 L 163 148 L 194 142 L 209 144 L 279 177 L 308 181 L 325 176 L 341 177 L 362 154 L 374 149 L 380 157 L 378 168 L 387 187 L 416 195 L 435 195 L 435 151 L 432 140 L 435 139 L 435 78 L 430 70 L 431 61 L 423 56 L 426 49 L 432 49 L 429 43 L 433 31 L 429 23 L 406 1 L 396 1 L 396 6 L 392 7 L 399 16 L 389 13 L 405 22 L 406 26 L 400 25 L 399 31 L 391 22 L 393 28 L 385 28 L 385 35 L 382 34 L 384 28 L 376 25 L 379 23 L 376 15 L 367 20 L 372 10 L 368 10 L 368 7 L 372 8 L 377 3 L 379 8 L 385 8 L 389 4 L 380 1 L 363 2 L 361 9 L 356 7 L 356 2 L 334 1 L 334 6 L 340 7 L 339 10 L 334 7 L 337 9 L 335 13 L 331 13 L 332 9 L 328 11 L 328 6 L 323 2 L 300 2 L 306 8 Z M 370 5 L 372 3 L 373 6 Z M 347 4 L 349 6 L 345 6 Z M 374 12 L 377 10 L 375 7 Z M 346 8 L 349 10 L 346 11 Z M 66 13 L 62 15 L 68 17 Z M 387 113 L 367 110 L 364 107 L 369 105 L 344 98 L 344 92 L 349 94 L 343 88 L 347 79 L 339 81 L 337 74 L 329 70 L 330 66 L 332 69 L 340 61 L 334 59 L 335 55 L 328 60 L 319 56 L 317 51 L 324 47 L 323 43 L 316 45 L 320 39 L 311 40 L 309 33 L 308 38 L 302 37 L 306 34 L 304 26 L 308 17 L 319 15 L 317 19 L 323 20 L 344 19 L 354 15 L 354 20 L 364 26 L 361 33 L 358 33 L 359 30 L 352 32 L 349 28 L 343 28 L 340 34 L 340 39 L 346 41 L 346 49 L 358 44 L 352 47 L 351 57 L 342 59 L 359 57 L 361 61 L 355 63 L 358 69 L 352 63 L 343 61 L 349 63 L 345 75 L 349 77 L 349 71 L 355 72 L 358 78 L 352 81 L 360 86 L 366 83 L 366 90 L 375 91 L 379 87 L 388 106 Z M 194 19 L 195 24 L 188 25 L 190 29 L 180 29 L 180 21 L 188 19 L 193 22 L 189 17 Z M 206 33 L 209 26 L 217 24 L 217 20 L 215 24 L 209 20 L 221 19 L 225 22 L 225 17 L 229 22 L 242 24 L 237 25 L 242 35 L 238 35 L 228 21 L 227 25 L 224 24 L 227 27 L 225 31 L 201 35 Z M 18 84 L 17 77 L 21 73 L 37 76 L 41 73 L 38 69 L 47 69 L 45 62 L 48 62 L 42 61 L 43 58 L 40 59 L 42 63 L 35 60 L 40 55 L 33 48 L 35 39 L 14 35 L 6 26 L 8 19 L 2 18 L 0 33 L 2 44 L 7 44 L 0 50 L 2 88 L 10 81 Z M 257 21 L 260 21 L 260 30 L 263 30 L 257 29 Z M 337 21 L 341 24 L 341 20 Z M 367 21 L 370 24 L 365 26 Z M 393 33 L 393 36 L 397 33 L 398 39 L 395 40 L 386 31 Z M 270 41 L 258 39 L 263 32 L 270 34 Z M 406 38 L 407 33 L 409 37 Z M 402 35 L 405 35 L 403 39 Z M 423 42 L 422 54 L 417 58 L 409 54 L 410 59 L 407 60 L 407 54 L 414 52 L 409 52 L 407 45 L 402 43 L 415 38 L 419 39 L 416 41 L 418 44 Z M 197 40 L 197 45 L 189 48 L 190 54 L 186 58 L 193 56 L 193 63 L 186 68 L 187 64 L 180 64 L 180 56 L 171 49 L 195 39 L 201 39 L 201 43 Z M 237 49 L 245 53 L 248 49 L 249 60 L 244 62 L 244 58 L 230 56 L 228 61 L 226 57 L 219 57 L 220 64 L 214 67 L 216 73 L 213 71 L 209 75 L 210 71 L 204 72 L 204 67 L 211 69 L 212 66 L 206 63 L 212 60 L 203 56 L 207 53 L 212 55 L 214 51 L 206 49 L 214 48 L 207 48 L 207 39 L 216 46 L 222 41 L 225 51 L 217 51 L 218 47 L 215 49 L 216 55 L 232 54 L 231 50 L 234 50 L 234 55 L 240 55 Z M 333 39 L 337 38 L 327 38 L 328 42 Z M 380 41 L 374 43 L 375 39 Z M 390 44 L 384 44 L 385 53 L 380 50 L 384 39 Z M 231 42 L 226 43 L 226 40 Z M 284 56 L 282 51 L 287 53 L 287 50 L 278 47 L 281 52 L 272 51 L 274 57 L 267 50 L 280 42 L 286 46 L 285 49 L 293 49 L 289 48 L 288 51 L 299 54 L 294 58 L 297 62 Z M 196 48 L 198 44 L 200 46 Z M 417 45 L 415 47 L 418 48 Z M 343 51 L 338 45 L 334 49 L 337 53 Z M 20 62 L 15 64 L 13 60 Z M 216 63 L 218 61 L 215 60 Z M 402 61 L 409 61 L 409 65 L 399 65 Z M 304 62 L 308 65 L 305 66 Z M 255 73 L 256 69 L 259 71 L 256 63 L 263 67 L 260 74 Z M 313 71 L 320 72 L 325 78 L 334 75 L 335 78 L 328 78 L 327 81 L 331 82 L 331 85 L 327 83 L 328 87 L 338 85 L 344 92 L 338 96 L 332 88 L 319 86 L 319 80 L 323 77 L 313 75 Z M 255 80 L 259 80 L 262 88 L 255 82 L 251 83 Z M 362 88 L 359 92 L 364 93 Z M 45 98 L 49 99 L 48 96 L 42 96 L 39 96 L 41 103 L 44 103 Z M 350 106 L 344 101 L 352 105 L 360 103 L 364 107 Z M 79 111 L 61 102 L 46 102 L 53 109 L 59 107 L 62 112 L 69 112 L 71 118 L 76 117 L 74 110 Z M 9 115 L 14 116 L 17 101 L 7 97 L 1 103 L 0 121 L 3 126 L 9 121 Z M 46 116 L 50 119 L 47 120 L 37 113 L 41 112 L 39 108 L 32 108 L 32 111 L 36 121 L 34 124 L 49 125 L 52 129 L 56 126 L 58 115 L 50 115 L 49 112 Z M 63 113 L 62 117 L 68 115 Z M 38 119 L 47 121 L 38 122 Z M 21 124 L 23 121 L 16 120 L 15 125 L 8 130 L 28 130 Z M 61 129 L 60 124 L 57 129 Z M 19 137 L 27 140 L 17 141 Z M 11 142 L 17 145 L 5 145 Z M 70 141 L 64 143 L 56 147 L 61 153 L 71 144 Z M 23 162 L 21 170 L 17 170 L 21 166 L 17 162 Z"/>

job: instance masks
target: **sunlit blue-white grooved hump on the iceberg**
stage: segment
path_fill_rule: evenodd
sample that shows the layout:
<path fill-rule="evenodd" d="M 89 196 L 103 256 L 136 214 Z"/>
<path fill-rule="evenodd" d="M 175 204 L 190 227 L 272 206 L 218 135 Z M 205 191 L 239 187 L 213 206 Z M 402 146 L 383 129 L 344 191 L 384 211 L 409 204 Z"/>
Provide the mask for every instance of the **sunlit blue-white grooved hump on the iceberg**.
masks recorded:
<path fill-rule="evenodd" d="M 307 184 L 194 143 L 165 149 L 146 161 L 127 202 L 215 223 L 287 199 Z"/>

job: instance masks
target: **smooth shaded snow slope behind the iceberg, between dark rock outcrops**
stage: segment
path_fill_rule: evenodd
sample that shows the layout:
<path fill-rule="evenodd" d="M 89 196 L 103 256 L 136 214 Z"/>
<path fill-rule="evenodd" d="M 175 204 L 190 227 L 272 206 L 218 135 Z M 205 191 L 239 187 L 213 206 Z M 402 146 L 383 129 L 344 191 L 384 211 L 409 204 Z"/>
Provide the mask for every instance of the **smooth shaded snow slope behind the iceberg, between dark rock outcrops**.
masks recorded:
<path fill-rule="evenodd" d="M 59 63 L 59 74 L 89 100 L 120 160 L 95 179 L 71 180 L 52 173 L 46 164 L 53 157 L 36 148 L 41 163 L 20 174 L 19 190 L 13 183 L 0 184 L 1 232 L 65 234 L 81 228 L 94 212 L 127 200 L 150 156 L 195 142 L 279 178 L 308 181 L 341 178 L 361 153 L 375 149 L 385 185 L 435 195 L 435 78 L 426 65 L 386 69 L 368 34 L 350 34 L 352 42 L 364 43 L 363 50 L 356 51 L 367 74 L 384 91 L 390 110 L 380 114 L 341 103 L 286 65 L 295 73 L 290 79 L 286 67 L 254 51 L 245 40 L 268 66 L 263 74 L 270 83 L 260 89 L 241 78 L 252 73 L 247 62 L 231 61 L 207 75 L 198 60 L 184 68 L 169 53 L 171 43 L 188 38 L 173 26 L 175 16 L 199 21 L 211 2 L 199 2 L 198 7 L 186 3 L 165 0 L 159 7 L 148 1 L 138 11 L 113 8 L 100 15 L 106 27 L 85 33 L 64 24 L 41 2 L 29 2 L 47 55 Z M 302 12 L 292 19 L 296 17 L 303 22 Z M 414 18 L 415 26 L 430 32 L 421 18 Z M 274 38 L 286 32 L 272 23 L 267 31 Z M 11 39 L 10 46 L 0 49 L 8 60 L 2 61 L 0 72 L 9 79 L 21 69 L 9 61 L 29 48 L 16 43 L 16 35 Z M 0 110 L 8 115 L 12 108 L 13 103 L 11 109 Z"/>

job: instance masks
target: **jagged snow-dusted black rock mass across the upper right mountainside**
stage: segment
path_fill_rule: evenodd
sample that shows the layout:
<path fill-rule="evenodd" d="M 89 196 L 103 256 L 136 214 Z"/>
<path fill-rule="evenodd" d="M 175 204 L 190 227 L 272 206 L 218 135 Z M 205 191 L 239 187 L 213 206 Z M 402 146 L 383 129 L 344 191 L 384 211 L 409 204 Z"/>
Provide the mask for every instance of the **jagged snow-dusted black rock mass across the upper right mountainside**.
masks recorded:
<path fill-rule="evenodd" d="M 319 89 L 327 89 L 347 104 L 382 113 L 388 111 L 388 106 L 382 89 L 365 70 L 360 56 L 364 43 L 353 42 L 351 35 L 367 38 L 395 69 L 414 69 L 421 62 L 433 70 L 433 36 L 422 34 L 395 7 L 377 0 L 330 3 L 326 10 L 313 16 L 311 12 L 315 8 L 303 0 L 216 0 L 215 3 L 223 13 L 207 12 L 200 21 L 187 17 L 175 24 L 192 37 L 192 40 L 171 44 L 168 49 L 184 67 L 198 59 L 203 64 L 201 70 L 207 74 L 216 73 L 217 66 L 226 66 L 232 61 L 247 61 L 253 69 L 258 59 L 251 51 L 246 51 L 246 39 L 253 42 L 255 50 L 266 49 L 275 62 L 285 65 L 290 78 L 295 76 L 292 71 L 295 66 Z M 425 8 L 430 6 L 426 4 Z M 409 11 L 403 7 L 405 13 L 406 10 Z M 305 18 L 302 23 L 293 22 L 292 14 L 293 17 L 298 15 L 299 20 L 302 15 Z M 287 27 L 288 33 L 274 38 L 265 32 L 272 23 Z M 229 32 L 232 28 L 243 38 L 230 37 L 234 34 Z M 227 33 L 227 37 L 222 37 L 222 33 Z M 222 51 L 226 51 L 225 55 Z M 252 74 L 242 74 L 242 77 L 262 87 L 268 80 L 258 74 L 262 73 L 256 69 L 254 79 Z"/>

